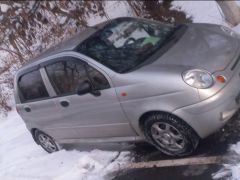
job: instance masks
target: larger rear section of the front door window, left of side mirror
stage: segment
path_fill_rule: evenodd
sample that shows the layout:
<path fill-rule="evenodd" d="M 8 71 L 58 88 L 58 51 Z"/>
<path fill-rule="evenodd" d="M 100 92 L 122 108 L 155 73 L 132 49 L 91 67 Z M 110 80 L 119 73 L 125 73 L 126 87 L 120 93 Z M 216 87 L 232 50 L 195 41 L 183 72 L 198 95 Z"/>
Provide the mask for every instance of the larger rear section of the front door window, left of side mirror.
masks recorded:
<path fill-rule="evenodd" d="M 77 92 L 80 83 L 89 81 L 81 61 L 73 58 L 46 66 L 46 71 L 58 95 L 72 94 Z"/>

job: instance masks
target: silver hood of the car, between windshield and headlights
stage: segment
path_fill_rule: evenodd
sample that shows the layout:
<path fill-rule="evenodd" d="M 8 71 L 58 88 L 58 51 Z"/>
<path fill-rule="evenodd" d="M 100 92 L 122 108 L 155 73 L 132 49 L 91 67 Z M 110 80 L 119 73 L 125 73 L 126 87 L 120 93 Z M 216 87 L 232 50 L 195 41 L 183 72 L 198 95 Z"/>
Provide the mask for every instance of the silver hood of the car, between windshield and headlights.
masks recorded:
<path fill-rule="evenodd" d="M 221 26 L 191 24 L 153 65 L 184 65 L 214 73 L 224 70 L 238 54 L 238 49 L 238 37 L 230 36 Z"/>

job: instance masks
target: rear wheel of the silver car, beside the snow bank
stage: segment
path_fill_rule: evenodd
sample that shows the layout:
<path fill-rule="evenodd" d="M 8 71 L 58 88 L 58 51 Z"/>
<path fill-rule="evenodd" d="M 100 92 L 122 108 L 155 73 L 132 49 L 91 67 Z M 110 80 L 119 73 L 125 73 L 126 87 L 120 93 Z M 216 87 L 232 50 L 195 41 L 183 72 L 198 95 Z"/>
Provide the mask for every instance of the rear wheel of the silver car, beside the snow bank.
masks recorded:
<path fill-rule="evenodd" d="M 42 131 L 36 130 L 34 136 L 37 144 L 48 153 L 53 153 L 61 149 L 59 144 L 51 136 Z"/>

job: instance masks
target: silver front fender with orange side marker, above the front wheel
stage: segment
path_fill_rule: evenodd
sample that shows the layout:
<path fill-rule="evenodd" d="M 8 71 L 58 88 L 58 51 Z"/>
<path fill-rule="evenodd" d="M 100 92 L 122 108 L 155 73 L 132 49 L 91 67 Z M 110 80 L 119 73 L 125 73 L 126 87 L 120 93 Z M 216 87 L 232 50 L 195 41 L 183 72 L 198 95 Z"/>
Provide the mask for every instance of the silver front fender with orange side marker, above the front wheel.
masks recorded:
<path fill-rule="evenodd" d="M 199 102 L 197 89 L 182 81 L 184 67 L 172 70 L 170 67 L 151 66 L 113 77 L 119 101 L 138 134 L 142 135 L 138 120 L 145 112 L 171 113 L 182 104 Z M 162 78 L 163 74 L 167 78 Z M 127 95 L 121 96 L 122 92 Z"/>

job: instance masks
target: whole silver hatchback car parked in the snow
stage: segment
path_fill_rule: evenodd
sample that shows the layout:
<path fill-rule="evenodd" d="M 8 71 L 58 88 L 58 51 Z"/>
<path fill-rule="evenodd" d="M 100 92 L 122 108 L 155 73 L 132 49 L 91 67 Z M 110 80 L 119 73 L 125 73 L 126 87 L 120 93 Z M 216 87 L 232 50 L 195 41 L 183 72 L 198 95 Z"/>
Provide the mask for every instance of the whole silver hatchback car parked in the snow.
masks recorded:
<path fill-rule="evenodd" d="M 240 38 L 212 24 L 117 18 L 49 49 L 15 77 L 37 144 L 147 141 L 188 155 L 238 110 Z"/>

